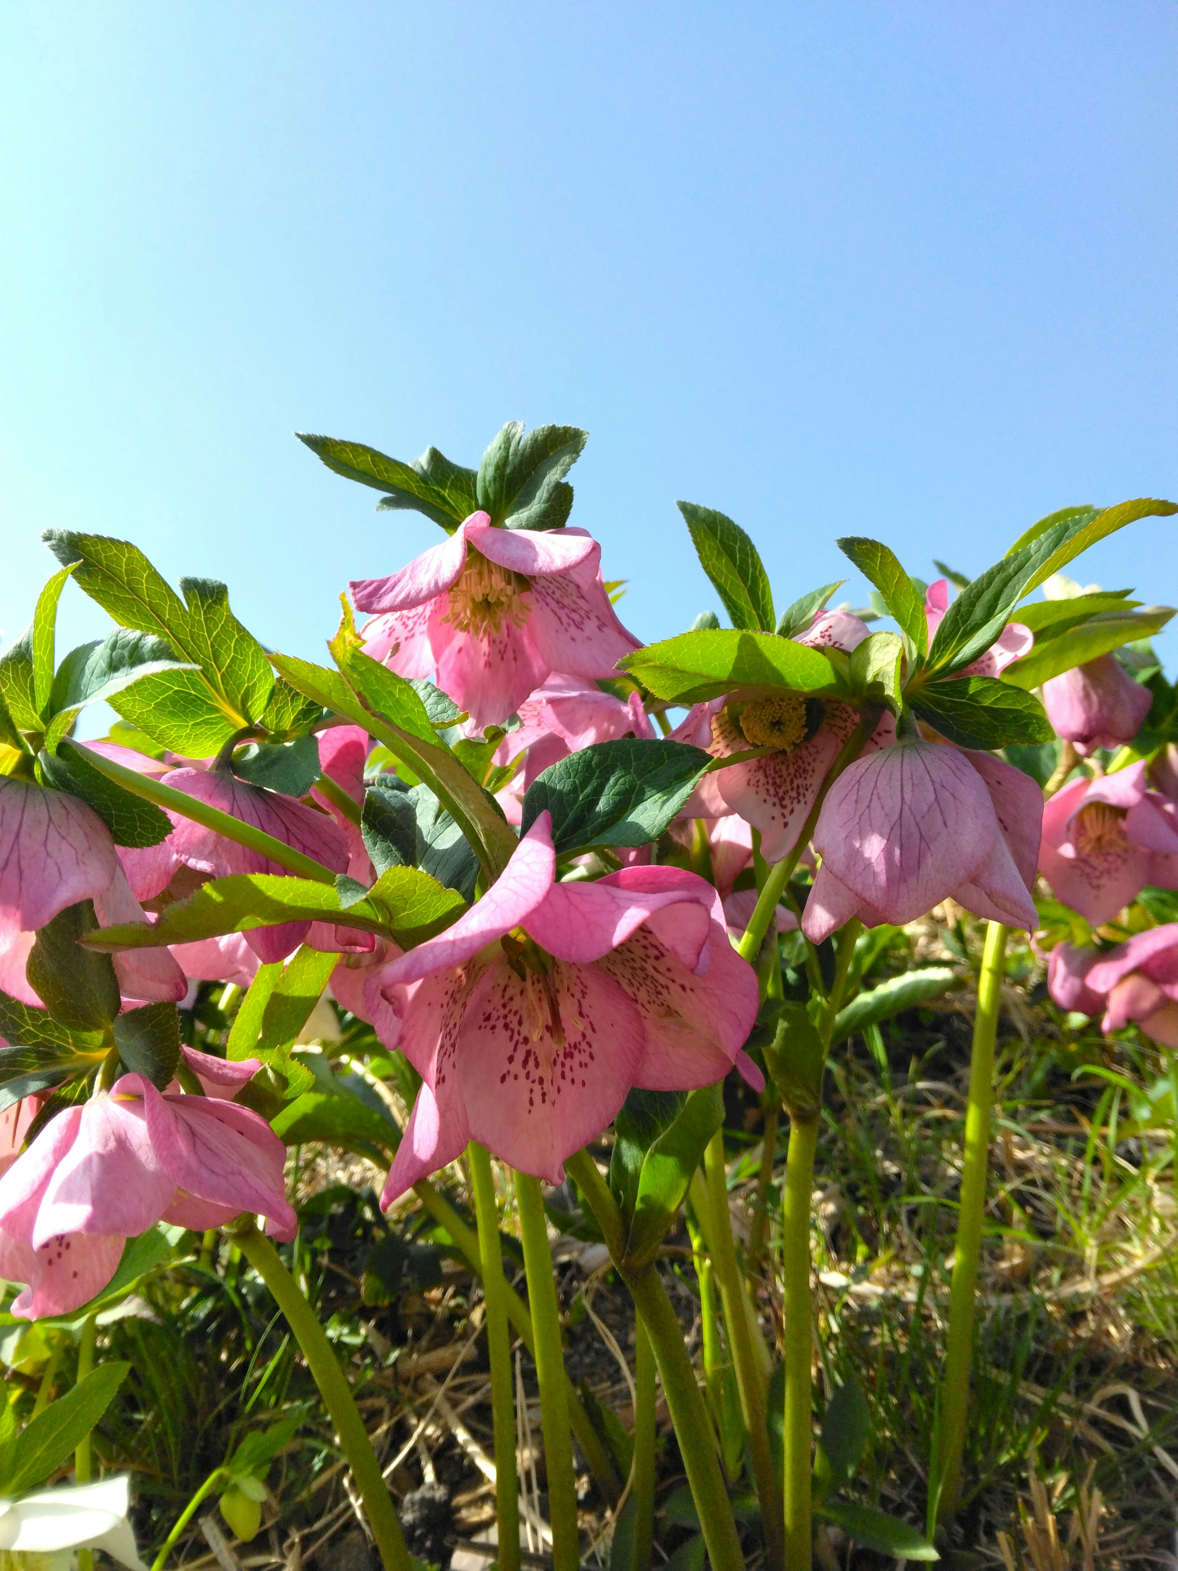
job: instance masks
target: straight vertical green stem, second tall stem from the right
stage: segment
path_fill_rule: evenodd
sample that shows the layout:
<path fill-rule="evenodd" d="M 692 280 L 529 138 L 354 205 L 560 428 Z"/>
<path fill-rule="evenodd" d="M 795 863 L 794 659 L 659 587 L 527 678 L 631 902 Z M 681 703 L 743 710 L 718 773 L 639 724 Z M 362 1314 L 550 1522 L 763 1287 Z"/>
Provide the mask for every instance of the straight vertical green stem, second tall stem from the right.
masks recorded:
<path fill-rule="evenodd" d="M 818 1112 L 790 1117 L 781 1208 L 781 1288 L 785 1310 L 785 1571 L 810 1571 L 810 1194 Z"/>

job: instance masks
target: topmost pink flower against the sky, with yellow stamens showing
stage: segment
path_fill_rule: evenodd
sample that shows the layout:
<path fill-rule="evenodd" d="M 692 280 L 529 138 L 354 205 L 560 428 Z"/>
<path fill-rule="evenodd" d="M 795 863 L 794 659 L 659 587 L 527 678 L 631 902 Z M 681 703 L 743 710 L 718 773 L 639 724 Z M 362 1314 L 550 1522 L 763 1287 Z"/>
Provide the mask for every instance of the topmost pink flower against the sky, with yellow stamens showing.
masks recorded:
<path fill-rule="evenodd" d="M 388 578 L 352 583 L 368 654 L 438 687 L 477 731 L 509 720 L 548 677 L 608 677 L 639 647 L 614 614 L 583 529 L 496 529 L 473 512 Z"/>

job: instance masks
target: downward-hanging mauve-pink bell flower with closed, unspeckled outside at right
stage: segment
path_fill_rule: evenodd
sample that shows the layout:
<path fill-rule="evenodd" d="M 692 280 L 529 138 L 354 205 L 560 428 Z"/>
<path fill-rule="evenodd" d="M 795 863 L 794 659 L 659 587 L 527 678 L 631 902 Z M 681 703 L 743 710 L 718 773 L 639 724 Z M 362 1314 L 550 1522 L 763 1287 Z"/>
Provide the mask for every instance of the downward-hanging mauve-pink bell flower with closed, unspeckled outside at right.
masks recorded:
<path fill-rule="evenodd" d="M 814 831 L 821 867 L 801 921 L 812 943 L 850 917 L 902 925 L 952 895 L 968 911 L 1035 928 L 1043 798 L 990 753 L 900 742 L 834 781 Z"/>

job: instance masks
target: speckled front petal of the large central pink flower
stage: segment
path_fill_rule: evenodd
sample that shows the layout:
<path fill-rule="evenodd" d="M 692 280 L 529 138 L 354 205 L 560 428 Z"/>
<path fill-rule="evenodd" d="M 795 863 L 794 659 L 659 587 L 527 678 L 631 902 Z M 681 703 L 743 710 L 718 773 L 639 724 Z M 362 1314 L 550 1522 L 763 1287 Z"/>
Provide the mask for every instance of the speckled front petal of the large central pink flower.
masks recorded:
<path fill-rule="evenodd" d="M 620 987 L 558 961 L 548 977 L 496 961 L 466 1005 L 455 1054 L 471 1137 L 520 1172 L 561 1183 L 635 1082 L 642 1024 Z M 446 1067 L 438 1062 L 443 1092 Z"/>

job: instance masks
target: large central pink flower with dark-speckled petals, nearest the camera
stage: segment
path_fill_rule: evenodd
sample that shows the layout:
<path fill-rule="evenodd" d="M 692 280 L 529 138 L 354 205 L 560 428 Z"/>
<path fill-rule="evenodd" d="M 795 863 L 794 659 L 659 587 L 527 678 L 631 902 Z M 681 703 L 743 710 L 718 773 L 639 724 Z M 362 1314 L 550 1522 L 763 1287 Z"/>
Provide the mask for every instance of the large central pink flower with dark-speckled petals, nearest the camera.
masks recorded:
<path fill-rule="evenodd" d="M 741 1051 L 757 979 L 716 891 L 677 867 L 597 883 L 554 883 L 554 869 L 540 814 L 477 905 L 369 976 L 424 1079 L 383 1205 L 471 1139 L 559 1183 L 631 1086 L 710 1086 L 734 1062 L 760 1079 Z"/>

